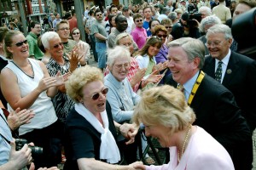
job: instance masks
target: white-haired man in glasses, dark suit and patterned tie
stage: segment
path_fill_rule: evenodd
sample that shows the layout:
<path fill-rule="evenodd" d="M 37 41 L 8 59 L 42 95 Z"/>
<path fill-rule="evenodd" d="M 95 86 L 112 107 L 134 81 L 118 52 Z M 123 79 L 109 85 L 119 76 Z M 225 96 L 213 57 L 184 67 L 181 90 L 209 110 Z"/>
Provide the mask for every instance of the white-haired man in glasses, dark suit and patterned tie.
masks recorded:
<path fill-rule="evenodd" d="M 225 88 L 234 94 L 241 115 L 247 120 L 251 133 L 256 127 L 256 61 L 245 55 L 230 50 L 232 34 L 229 26 L 215 25 L 207 31 L 207 56 L 203 71 L 212 78 L 218 79 L 218 63 L 221 65 L 221 77 L 218 79 Z M 240 169 L 251 169 L 253 161 L 253 143 L 248 141 L 247 149 L 237 155 L 246 155 L 247 163 Z M 243 154 L 242 154 L 243 153 Z M 236 155 L 236 154 L 235 154 Z M 250 157 L 249 157 L 250 156 Z M 245 157 L 245 156 L 242 156 Z M 242 161 L 240 159 L 240 161 Z"/>

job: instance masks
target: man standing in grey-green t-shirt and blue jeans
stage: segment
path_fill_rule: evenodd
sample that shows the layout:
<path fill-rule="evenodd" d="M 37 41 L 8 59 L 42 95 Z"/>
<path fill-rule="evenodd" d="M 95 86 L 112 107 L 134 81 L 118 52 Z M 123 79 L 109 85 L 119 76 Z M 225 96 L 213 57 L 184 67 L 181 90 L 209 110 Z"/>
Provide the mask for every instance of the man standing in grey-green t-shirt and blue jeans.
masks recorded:
<path fill-rule="evenodd" d="M 96 9 L 96 20 L 91 26 L 91 34 L 96 38 L 96 53 L 98 54 L 98 67 L 103 71 L 106 67 L 106 50 L 107 50 L 107 31 L 105 29 L 105 21 L 102 18 L 102 11 Z"/>

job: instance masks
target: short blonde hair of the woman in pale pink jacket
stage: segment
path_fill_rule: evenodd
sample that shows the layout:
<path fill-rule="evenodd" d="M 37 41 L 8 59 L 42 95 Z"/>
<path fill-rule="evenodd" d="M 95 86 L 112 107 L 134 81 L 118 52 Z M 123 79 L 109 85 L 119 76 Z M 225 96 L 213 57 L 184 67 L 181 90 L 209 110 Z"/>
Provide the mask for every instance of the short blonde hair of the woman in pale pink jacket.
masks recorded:
<path fill-rule="evenodd" d="M 149 88 L 136 105 L 133 121 L 147 126 L 163 125 L 177 132 L 195 122 L 195 113 L 182 92 L 172 86 Z"/>

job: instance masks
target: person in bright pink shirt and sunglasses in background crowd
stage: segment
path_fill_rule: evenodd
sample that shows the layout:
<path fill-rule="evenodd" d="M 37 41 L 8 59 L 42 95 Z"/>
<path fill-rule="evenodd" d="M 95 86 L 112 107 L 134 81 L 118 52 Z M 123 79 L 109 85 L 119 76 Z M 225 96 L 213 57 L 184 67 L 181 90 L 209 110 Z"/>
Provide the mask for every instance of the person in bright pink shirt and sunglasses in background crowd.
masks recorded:
<path fill-rule="evenodd" d="M 133 20 L 135 23 L 135 28 L 131 31 L 131 36 L 134 42 L 137 43 L 137 47 L 139 49 L 143 48 L 147 40 L 147 31 L 143 28 L 143 15 L 142 14 L 134 14 Z"/>

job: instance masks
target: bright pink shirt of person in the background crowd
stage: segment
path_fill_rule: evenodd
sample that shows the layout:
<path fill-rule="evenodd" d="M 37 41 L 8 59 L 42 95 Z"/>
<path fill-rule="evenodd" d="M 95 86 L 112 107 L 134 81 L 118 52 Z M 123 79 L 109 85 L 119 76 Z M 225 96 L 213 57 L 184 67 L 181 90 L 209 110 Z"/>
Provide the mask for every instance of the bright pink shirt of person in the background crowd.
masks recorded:
<path fill-rule="evenodd" d="M 146 43 L 147 40 L 147 31 L 145 30 L 145 28 L 139 28 L 139 27 L 135 27 L 132 31 L 131 31 L 131 36 L 133 38 L 133 41 L 137 43 L 137 47 L 139 49 L 143 48 L 143 46 Z"/>

